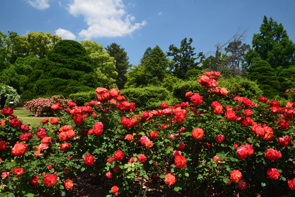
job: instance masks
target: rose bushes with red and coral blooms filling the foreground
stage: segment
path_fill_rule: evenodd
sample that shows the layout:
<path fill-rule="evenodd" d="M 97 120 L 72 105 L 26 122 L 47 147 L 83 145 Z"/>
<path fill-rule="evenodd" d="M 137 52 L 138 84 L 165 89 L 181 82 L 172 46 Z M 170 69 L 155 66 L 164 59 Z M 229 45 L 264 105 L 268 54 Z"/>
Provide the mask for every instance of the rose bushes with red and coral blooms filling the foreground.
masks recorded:
<path fill-rule="evenodd" d="M 99 87 L 98 101 L 60 110 L 50 131 L 48 120 L 23 131 L 2 116 L 4 193 L 65 196 L 73 183 L 69 175 L 87 171 L 110 180 L 108 196 L 137 196 L 160 178 L 164 188 L 192 196 L 291 197 L 294 103 L 281 107 L 274 100 L 237 96 L 222 106 L 227 90 L 218 87 L 219 76 L 201 76 L 202 91 L 186 93 L 191 103 L 161 104 L 152 111 L 137 111 L 120 90 Z M 32 137 L 20 141 L 24 133 Z M 16 174 L 15 168 L 24 171 Z"/>

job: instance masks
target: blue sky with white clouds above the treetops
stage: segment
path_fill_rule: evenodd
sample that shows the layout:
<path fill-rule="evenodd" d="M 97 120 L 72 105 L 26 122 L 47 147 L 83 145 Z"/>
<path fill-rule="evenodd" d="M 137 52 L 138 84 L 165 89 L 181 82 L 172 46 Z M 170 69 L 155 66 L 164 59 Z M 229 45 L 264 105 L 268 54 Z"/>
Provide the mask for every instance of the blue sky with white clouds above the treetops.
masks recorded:
<path fill-rule="evenodd" d="M 165 53 L 184 38 L 193 39 L 196 53 L 215 51 L 238 27 L 249 27 L 244 43 L 252 46 L 264 15 L 282 23 L 295 42 L 294 10 L 294 0 L 2 0 L 0 30 L 117 43 L 137 65 L 146 48 L 159 45 Z"/>

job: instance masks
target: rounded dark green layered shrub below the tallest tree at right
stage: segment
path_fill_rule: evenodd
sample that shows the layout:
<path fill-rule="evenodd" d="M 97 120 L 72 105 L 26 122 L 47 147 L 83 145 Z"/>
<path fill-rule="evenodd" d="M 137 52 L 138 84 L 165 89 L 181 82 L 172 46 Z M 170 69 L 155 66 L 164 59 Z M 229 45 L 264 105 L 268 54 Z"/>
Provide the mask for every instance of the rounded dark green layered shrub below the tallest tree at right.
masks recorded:
<path fill-rule="evenodd" d="M 274 69 L 266 61 L 258 61 L 249 68 L 247 79 L 256 81 L 259 88 L 263 91 L 263 96 L 273 98 L 277 94 L 280 84 L 277 81 Z"/>

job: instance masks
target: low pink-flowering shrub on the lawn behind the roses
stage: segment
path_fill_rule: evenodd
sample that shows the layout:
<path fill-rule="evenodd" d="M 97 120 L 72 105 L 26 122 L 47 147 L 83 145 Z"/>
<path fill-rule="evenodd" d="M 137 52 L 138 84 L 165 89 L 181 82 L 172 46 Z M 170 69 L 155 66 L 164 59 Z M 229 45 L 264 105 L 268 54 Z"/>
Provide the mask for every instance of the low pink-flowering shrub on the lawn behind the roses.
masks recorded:
<path fill-rule="evenodd" d="M 72 100 L 65 99 L 63 95 L 54 95 L 53 97 L 47 98 L 37 98 L 24 103 L 24 107 L 29 110 L 29 112 L 33 112 L 35 117 L 39 117 L 40 115 L 46 114 L 54 114 L 56 111 L 51 108 L 52 105 L 56 103 L 60 104 L 61 109 L 68 108 L 68 102 Z"/>

